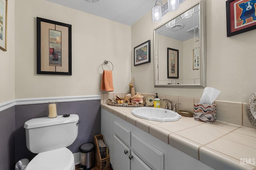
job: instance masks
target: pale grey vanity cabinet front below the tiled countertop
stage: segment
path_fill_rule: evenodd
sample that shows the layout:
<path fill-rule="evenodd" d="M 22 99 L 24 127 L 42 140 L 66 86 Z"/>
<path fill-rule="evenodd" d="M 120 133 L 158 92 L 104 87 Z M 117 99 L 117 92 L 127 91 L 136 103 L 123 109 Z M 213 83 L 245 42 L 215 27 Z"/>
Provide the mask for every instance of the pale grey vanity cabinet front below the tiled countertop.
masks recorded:
<path fill-rule="evenodd" d="M 101 133 L 114 170 L 213 170 L 105 109 L 101 109 Z"/>

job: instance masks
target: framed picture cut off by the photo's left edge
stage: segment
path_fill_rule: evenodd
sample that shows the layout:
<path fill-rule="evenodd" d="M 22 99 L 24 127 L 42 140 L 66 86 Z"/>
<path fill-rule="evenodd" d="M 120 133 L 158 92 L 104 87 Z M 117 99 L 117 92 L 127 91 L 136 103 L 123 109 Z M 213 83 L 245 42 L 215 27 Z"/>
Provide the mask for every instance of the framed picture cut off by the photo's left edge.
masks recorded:
<path fill-rule="evenodd" d="M 7 0 L 0 0 L 0 49 L 7 51 Z"/>

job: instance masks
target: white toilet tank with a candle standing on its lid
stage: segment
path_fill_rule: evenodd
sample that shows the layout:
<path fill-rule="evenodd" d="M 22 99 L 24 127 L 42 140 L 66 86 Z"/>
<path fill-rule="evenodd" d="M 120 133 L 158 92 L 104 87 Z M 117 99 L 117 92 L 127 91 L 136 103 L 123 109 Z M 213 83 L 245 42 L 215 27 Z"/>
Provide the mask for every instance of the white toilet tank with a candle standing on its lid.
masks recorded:
<path fill-rule="evenodd" d="M 69 117 L 58 115 L 55 118 L 40 117 L 26 121 L 26 145 L 33 153 L 68 147 L 78 135 L 78 120 L 76 114 Z"/>

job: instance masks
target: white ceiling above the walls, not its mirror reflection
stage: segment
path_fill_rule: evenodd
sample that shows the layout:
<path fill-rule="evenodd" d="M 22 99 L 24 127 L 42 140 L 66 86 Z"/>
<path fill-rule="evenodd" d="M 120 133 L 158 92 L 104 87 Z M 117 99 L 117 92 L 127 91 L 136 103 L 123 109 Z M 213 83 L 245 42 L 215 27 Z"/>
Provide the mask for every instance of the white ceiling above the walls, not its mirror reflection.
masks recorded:
<path fill-rule="evenodd" d="M 47 0 L 126 25 L 133 25 L 148 13 L 156 0 Z"/>

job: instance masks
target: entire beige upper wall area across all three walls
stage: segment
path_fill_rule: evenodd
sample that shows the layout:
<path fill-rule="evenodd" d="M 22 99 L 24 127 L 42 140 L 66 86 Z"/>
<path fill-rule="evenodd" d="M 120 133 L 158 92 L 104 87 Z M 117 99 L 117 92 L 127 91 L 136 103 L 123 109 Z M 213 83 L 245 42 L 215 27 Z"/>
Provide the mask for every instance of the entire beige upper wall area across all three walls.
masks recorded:
<path fill-rule="evenodd" d="M 115 92 L 128 91 L 132 69 L 138 92 L 200 98 L 203 89 L 154 88 L 153 69 L 153 29 L 196 2 L 186 0 L 179 10 L 166 14 L 160 23 L 152 22 L 150 11 L 131 30 L 130 26 L 44 0 L 8 1 L 7 51 L 0 51 L 0 102 L 100 94 L 101 64 L 105 59 L 114 64 Z M 256 30 L 226 37 L 225 2 L 206 0 L 206 83 L 221 90 L 217 100 L 247 102 L 256 85 L 256 59 L 252 50 Z M 72 76 L 36 74 L 37 16 L 72 24 Z M 148 39 L 151 40 L 151 63 L 133 66 L 133 48 Z"/>

